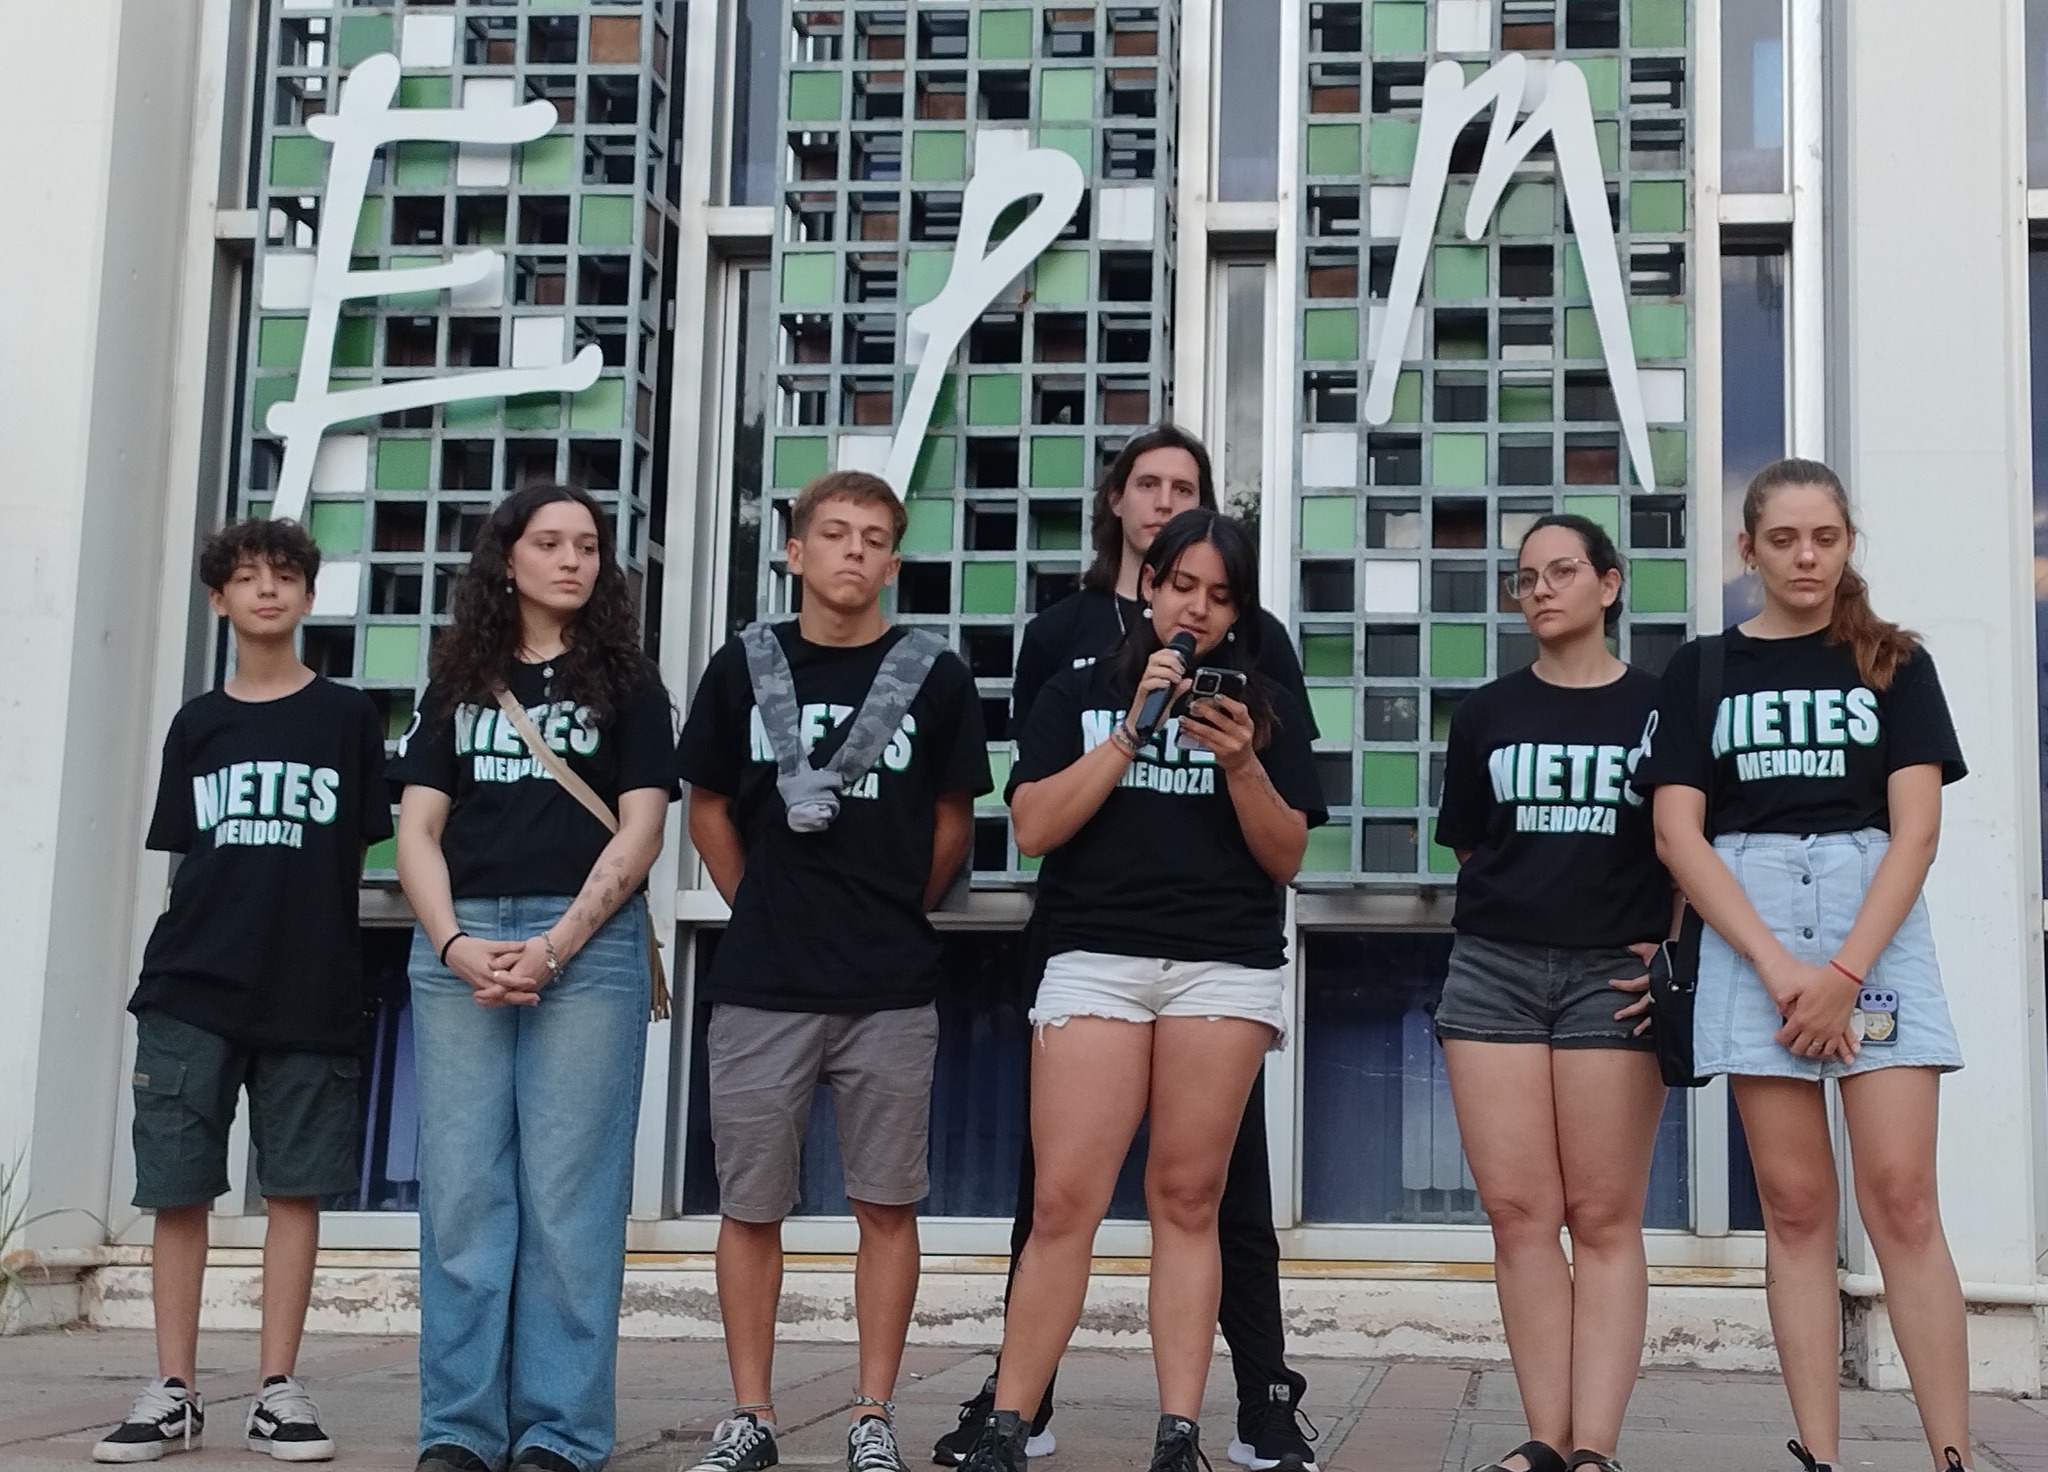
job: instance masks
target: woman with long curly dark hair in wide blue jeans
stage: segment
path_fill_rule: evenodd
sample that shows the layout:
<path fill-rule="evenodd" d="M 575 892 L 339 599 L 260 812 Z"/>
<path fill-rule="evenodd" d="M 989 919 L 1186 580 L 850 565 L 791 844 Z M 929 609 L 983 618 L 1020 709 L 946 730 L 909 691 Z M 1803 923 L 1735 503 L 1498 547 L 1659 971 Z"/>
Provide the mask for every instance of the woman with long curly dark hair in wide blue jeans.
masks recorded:
<path fill-rule="evenodd" d="M 586 809 L 500 708 L 510 690 Z M 418 917 L 420 1472 L 612 1449 L 647 1042 L 647 868 L 676 796 L 610 514 L 528 485 L 483 522 L 389 768 Z"/>

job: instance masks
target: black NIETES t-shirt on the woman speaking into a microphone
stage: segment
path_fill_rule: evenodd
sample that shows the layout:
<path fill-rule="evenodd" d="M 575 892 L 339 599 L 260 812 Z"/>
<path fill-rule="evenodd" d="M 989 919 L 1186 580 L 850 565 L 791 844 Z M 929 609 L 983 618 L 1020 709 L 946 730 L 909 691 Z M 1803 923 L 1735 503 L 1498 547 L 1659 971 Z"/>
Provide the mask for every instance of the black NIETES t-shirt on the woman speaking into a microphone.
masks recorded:
<path fill-rule="evenodd" d="M 1282 800 L 1315 827 L 1329 815 L 1307 712 L 1288 690 L 1268 684 L 1266 694 L 1278 727 L 1260 764 Z M 1128 708 L 1106 659 L 1053 676 L 1032 702 L 1010 792 L 1079 762 L 1110 739 Z M 1223 768 L 1208 751 L 1178 747 L 1178 729 L 1180 719 L 1169 717 L 1081 831 L 1044 856 L 1038 915 L 1049 956 L 1100 950 L 1241 966 L 1286 960 L 1280 884 L 1245 843 Z"/>

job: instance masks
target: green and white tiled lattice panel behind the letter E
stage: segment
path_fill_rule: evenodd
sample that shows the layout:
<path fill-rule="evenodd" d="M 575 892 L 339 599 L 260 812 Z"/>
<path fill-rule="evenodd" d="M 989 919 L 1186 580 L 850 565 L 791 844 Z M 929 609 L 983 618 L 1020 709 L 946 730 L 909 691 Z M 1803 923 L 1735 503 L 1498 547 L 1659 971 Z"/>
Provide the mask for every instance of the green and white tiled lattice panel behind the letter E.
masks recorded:
<path fill-rule="evenodd" d="M 680 8 L 670 0 L 532 0 L 522 6 L 397 4 L 260 6 L 254 109 L 258 231 L 254 280 L 276 285 L 274 252 L 305 254 L 328 223 L 328 147 L 305 121 L 332 106 L 352 68 L 399 53 L 401 109 L 477 104 L 477 82 L 514 82 L 512 102 L 547 96 L 561 117 L 545 137 L 494 151 L 430 139 L 381 149 L 350 242 L 354 270 L 426 270 L 455 250 L 496 248 L 502 278 L 463 293 L 406 291 L 350 301 L 334 330 L 332 387 L 418 381 L 514 364 L 516 323 L 549 317 L 567 350 L 606 354 L 606 377 L 582 393 L 457 399 L 336 426 L 303 516 L 332 575 L 305 622 L 305 657 L 365 686 L 387 735 L 399 735 L 426 678 L 428 631 L 446 620 L 449 588 L 471 538 L 508 487 L 586 485 L 614 518 L 623 561 L 659 626 L 664 526 L 651 518 L 655 424 L 653 338 L 674 297 L 662 272 L 664 231 L 680 219 L 668 194 L 672 147 L 668 57 Z M 254 12 L 252 12 L 254 14 Z M 422 20 L 455 29 L 453 53 L 420 53 Z M 412 63 L 408 55 L 412 53 Z M 823 82 L 838 86 L 840 72 Z M 838 106 L 834 106 L 834 117 Z M 639 233 L 645 242 L 637 242 Z M 645 250 L 635 250 L 635 244 Z M 834 262 L 827 258 L 827 272 Z M 831 283 L 827 278 L 827 297 Z M 244 342 L 244 442 L 229 489 L 236 514 L 270 514 L 281 442 L 272 403 L 299 387 L 303 309 L 258 311 Z M 823 446 L 823 438 L 817 440 Z M 801 469 L 801 442 L 776 446 L 776 471 Z M 823 454 L 815 454 L 823 469 Z M 334 602 L 336 592 L 354 592 Z M 389 882 L 391 846 L 369 856 Z"/>

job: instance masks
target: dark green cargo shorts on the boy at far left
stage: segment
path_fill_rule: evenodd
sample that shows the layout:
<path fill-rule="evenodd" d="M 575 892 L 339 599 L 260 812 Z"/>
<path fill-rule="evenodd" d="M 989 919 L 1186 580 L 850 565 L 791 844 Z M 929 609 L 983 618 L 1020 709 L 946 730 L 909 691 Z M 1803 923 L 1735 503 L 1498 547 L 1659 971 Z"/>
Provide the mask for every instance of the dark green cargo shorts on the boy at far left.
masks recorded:
<path fill-rule="evenodd" d="M 264 1196 L 356 1187 L 358 1058 L 256 1052 L 154 1009 L 135 1024 L 135 1206 L 205 1206 L 227 1192 L 227 1128 L 244 1087 Z"/>

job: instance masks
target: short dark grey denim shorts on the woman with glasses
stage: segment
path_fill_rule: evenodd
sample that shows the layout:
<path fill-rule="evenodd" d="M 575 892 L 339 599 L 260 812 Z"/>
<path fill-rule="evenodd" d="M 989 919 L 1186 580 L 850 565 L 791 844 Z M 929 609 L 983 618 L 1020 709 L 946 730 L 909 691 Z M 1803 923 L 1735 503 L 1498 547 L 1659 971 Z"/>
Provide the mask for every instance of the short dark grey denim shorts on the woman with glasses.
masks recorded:
<path fill-rule="evenodd" d="M 1626 946 L 1567 950 L 1458 936 L 1444 997 L 1436 1003 L 1436 1036 L 1550 1048 L 1649 1048 L 1649 1034 L 1634 1036 L 1640 1018 L 1614 1015 L 1640 993 L 1608 985 L 1642 972 L 1642 958 Z"/>

